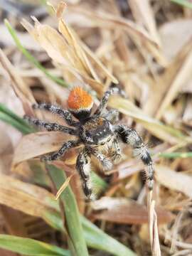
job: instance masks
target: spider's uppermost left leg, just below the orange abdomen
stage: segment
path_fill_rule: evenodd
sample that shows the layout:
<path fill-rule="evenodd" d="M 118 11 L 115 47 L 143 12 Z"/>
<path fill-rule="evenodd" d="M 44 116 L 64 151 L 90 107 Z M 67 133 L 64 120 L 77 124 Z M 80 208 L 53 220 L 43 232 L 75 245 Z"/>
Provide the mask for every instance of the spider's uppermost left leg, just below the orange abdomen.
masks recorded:
<path fill-rule="evenodd" d="M 67 124 L 70 126 L 77 126 L 79 124 L 78 122 L 75 122 L 73 120 L 73 116 L 72 116 L 72 114 L 70 114 L 70 112 L 68 110 L 63 110 L 62 108 L 57 107 L 55 105 L 51 105 L 48 103 L 34 104 L 33 109 L 34 110 L 37 110 L 37 109 L 38 110 L 47 110 L 47 111 L 51 112 L 52 114 L 58 114 L 60 117 L 65 119 Z"/>

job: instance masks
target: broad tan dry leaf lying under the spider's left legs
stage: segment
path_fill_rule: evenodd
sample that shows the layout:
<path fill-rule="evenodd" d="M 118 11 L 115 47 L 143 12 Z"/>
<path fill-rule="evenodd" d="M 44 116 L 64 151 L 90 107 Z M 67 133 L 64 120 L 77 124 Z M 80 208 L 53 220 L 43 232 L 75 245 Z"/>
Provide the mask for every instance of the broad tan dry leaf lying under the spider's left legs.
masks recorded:
<path fill-rule="evenodd" d="M 68 139 L 69 135 L 62 132 L 36 132 L 24 136 L 15 150 L 13 168 L 21 161 L 58 150 Z"/>

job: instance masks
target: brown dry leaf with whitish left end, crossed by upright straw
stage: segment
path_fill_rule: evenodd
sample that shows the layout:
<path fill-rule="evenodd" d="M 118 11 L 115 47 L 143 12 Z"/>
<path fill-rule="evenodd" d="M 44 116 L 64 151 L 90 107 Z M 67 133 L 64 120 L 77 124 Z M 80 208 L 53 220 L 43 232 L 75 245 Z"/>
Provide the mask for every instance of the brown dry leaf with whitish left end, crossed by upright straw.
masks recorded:
<path fill-rule="evenodd" d="M 136 201 L 125 198 L 102 197 L 92 202 L 94 210 L 92 217 L 98 220 L 107 220 L 112 223 L 144 224 L 148 222 L 147 209 Z M 157 208 L 158 223 L 169 223 L 173 218 L 169 211 Z"/>

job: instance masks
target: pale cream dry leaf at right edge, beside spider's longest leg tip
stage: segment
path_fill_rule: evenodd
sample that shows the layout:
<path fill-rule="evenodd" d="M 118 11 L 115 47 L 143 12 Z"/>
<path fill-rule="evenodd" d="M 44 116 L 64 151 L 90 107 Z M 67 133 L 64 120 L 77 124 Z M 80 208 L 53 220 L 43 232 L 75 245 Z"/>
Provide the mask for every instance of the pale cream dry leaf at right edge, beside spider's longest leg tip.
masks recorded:
<path fill-rule="evenodd" d="M 156 165 L 156 180 L 162 185 L 186 194 L 186 196 L 192 196 L 192 176 L 182 174 L 182 172 L 176 172 L 170 169 L 169 166 Z"/>

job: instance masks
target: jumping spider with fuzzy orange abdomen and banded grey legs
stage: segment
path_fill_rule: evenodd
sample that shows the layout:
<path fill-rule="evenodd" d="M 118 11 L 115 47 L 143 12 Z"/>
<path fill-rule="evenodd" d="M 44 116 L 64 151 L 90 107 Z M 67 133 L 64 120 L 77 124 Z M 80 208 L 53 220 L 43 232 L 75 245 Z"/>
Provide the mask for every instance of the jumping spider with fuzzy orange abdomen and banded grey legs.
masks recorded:
<path fill-rule="evenodd" d="M 109 110 L 106 114 L 107 102 L 110 95 L 121 93 L 118 87 L 110 87 L 102 97 L 100 105 L 94 114 L 91 115 L 93 100 L 92 97 L 82 89 L 75 87 L 68 97 L 68 110 L 63 110 L 55 105 L 41 103 L 33 105 L 34 109 L 47 110 L 53 114 L 58 114 L 70 127 L 64 127 L 57 123 L 50 123 L 25 117 L 28 122 L 38 127 L 43 127 L 48 131 L 60 131 L 78 137 L 76 140 L 65 142 L 63 146 L 55 153 L 43 156 L 44 161 L 53 161 L 59 159 L 68 149 L 75 146 L 83 145 L 82 151 L 78 155 L 76 169 L 82 178 L 82 188 L 87 198 L 92 196 L 92 186 L 90 182 L 90 156 L 95 156 L 101 163 L 104 171 L 112 169 L 112 163 L 121 157 L 121 149 L 119 140 L 132 146 L 134 154 L 142 159 L 143 163 L 148 167 L 145 172 L 148 187 L 153 187 L 154 169 L 146 145 L 142 142 L 137 132 L 125 126 L 124 124 L 115 124 L 119 113 L 117 110 Z M 73 116 L 78 119 L 76 122 Z M 71 128 L 73 127 L 73 128 Z M 110 157 L 107 152 L 111 152 Z"/>

